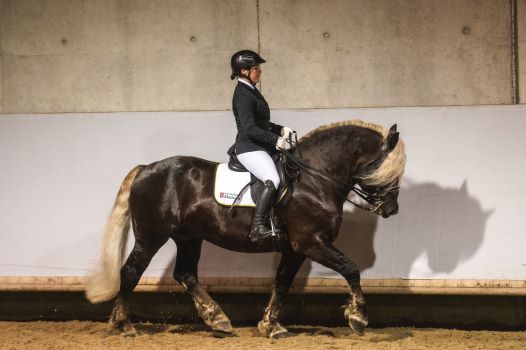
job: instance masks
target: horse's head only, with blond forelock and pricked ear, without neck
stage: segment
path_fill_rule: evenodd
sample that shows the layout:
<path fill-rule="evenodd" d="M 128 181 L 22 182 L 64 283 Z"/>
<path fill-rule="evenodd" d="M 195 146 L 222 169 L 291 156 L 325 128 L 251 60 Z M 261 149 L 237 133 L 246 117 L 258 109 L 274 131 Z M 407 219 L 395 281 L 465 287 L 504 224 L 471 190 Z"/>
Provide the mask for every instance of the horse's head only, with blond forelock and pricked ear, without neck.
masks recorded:
<path fill-rule="evenodd" d="M 381 147 L 363 156 L 353 177 L 357 192 L 375 214 L 387 218 L 398 213 L 399 181 L 405 167 L 403 143 L 399 142 L 396 124 L 389 129 Z"/>

